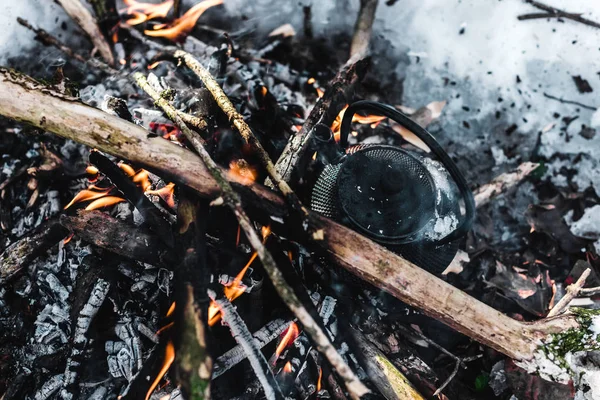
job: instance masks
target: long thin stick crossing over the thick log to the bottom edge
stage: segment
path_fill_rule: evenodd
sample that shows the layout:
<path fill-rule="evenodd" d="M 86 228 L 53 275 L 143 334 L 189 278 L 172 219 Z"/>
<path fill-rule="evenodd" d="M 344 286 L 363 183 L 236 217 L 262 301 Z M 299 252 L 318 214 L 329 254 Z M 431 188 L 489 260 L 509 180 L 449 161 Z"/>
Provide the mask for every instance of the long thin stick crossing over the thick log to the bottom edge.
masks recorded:
<path fill-rule="evenodd" d="M 143 85 L 145 80 L 141 73 L 135 74 L 136 81 Z M 149 86 L 149 85 L 147 85 Z M 151 89 L 144 85 L 145 89 Z M 157 95 L 154 92 L 154 95 Z M 161 103 L 159 103 L 161 104 Z M 164 103 L 162 103 L 164 104 Z M 164 110 L 164 109 L 163 109 Z M 166 112 L 166 111 L 165 111 Z M 305 331 L 309 334 L 312 341 L 316 344 L 317 349 L 325 355 L 327 360 L 336 369 L 337 373 L 344 379 L 348 392 L 352 394 L 353 398 L 360 398 L 363 394 L 368 393 L 369 390 L 362 382 L 356 377 L 354 372 L 346 364 L 342 356 L 337 352 L 333 344 L 323 332 L 319 324 L 313 319 L 310 313 L 306 310 L 296 293 L 291 286 L 285 281 L 283 274 L 277 268 L 275 259 L 267 248 L 262 243 L 258 233 L 252 226 L 252 222 L 242 207 L 242 200 L 240 196 L 233 190 L 231 184 L 225 179 L 224 174 L 221 172 L 217 164 L 210 157 L 202 142 L 195 139 L 194 133 L 183 123 L 181 118 L 177 114 L 173 115 L 175 118 L 173 121 L 177 124 L 179 129 L 190 139 L 190 142 L 194 146 L 198 155 L 202 159 L 202 162 L 208 169 L 210 175 L 217 181 L 219 188 L 221 189 L 221 197 L 224 204 L 231 209 L 236 219 L 238 220 L 240 227 L 246 234 L 246 238 L 252 248 L 257 252 L 258 258 L 263 264 L 265 271 L 269 275 L 273 286 L 277 291 L 277 294 L 281 297 L 283 302 L 289 307 L 289 309 L 298 317 L 300 323 L 304 326 Z"/>

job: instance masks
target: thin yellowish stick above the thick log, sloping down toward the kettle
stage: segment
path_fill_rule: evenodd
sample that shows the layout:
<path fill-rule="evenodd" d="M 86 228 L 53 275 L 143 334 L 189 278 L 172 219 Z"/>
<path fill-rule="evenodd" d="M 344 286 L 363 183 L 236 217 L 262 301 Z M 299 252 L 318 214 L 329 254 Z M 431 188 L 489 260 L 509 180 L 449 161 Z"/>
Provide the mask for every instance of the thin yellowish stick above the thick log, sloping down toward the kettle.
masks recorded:
<path fill-rule="evenodd" d="M 256 138 L 246 121 L 244 121 L 244 117 L 237 112 L 231 103 L 231 100 L 229 100 L 221 86 L 219 86 L 219 83 L 215 80 L 215 78 L 213 78 L 210 72 L 208 72 L 208 70 L 204 68 L 204 66 L 198 60 L 196 60 L 194 56 L 186 53 L 183 50 L 176 51 L 175 57 L 183 59 L 185 64 L 202 80 L 204 86 L 206 86 L 208 91 L 213 95 L 215 102 L 219 105 L 221 110 L 223 110 L 225 115 L 227 115 L 229 122 L 240 132 L 240 135 L 242 135 L 242 138 L 246 144 L 250 145 L 256 151 L 260 162 L 267 170 L 269 177 L 277 186 L 279 191 L 283 194 L 283 196 L 288 199 L 290 205 L 295 210 L 302 211 L 305 216 L 308 215 L 308 210 L 302 205 L 300 199 L 298 199 L 298 196 L 296 196 L 292 188 L 279 175 L 279 172 L 277 172 L 277 169 L 275 168 L 273 161 L 271 161 L 269 154 L 267 154 L 267 151 Z"/>

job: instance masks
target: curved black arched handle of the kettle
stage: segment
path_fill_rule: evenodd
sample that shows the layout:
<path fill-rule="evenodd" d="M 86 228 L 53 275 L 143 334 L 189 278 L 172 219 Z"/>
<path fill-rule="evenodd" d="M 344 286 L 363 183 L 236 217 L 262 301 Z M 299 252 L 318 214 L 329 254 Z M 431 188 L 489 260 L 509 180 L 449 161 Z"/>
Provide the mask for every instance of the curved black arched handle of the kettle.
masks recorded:
<path fill-rule="evenodd" d="M 448 153 L 440 146 L 437 140 L 435 140 L 435 138 L 419 124 L 396 110 L 394 107 L 376 101 L 360 100 L 352 103 L 344 113 L 344 118 L 342 119 L 342 125 L 340 127 L 340 145 L 342 148 L 346 148 L 348 145 L 348 134 L 351 129 L 350 125 L 352 123 L 352 117 L 354 117 L 354 114 L 359 110 L 367 110 L 383 115 L 402 125 L 425 142 L 433 154 L 435 154 L 442 164 L 444 164 L 448 172 L 450 172 L 450 176 L 452 176 L 454 182 L 456 182 L 465 201 L 465 215 L 456 229 L 442 238 L 440 242 L 442 244 L 448 243 L 465 235 L 473 226 L 473 220 L 475 219 L 475 200 L 473 198 L 473 193 L 469 189 L 467 181 L 458 169 L 458 166 L 452 161 Z"/>

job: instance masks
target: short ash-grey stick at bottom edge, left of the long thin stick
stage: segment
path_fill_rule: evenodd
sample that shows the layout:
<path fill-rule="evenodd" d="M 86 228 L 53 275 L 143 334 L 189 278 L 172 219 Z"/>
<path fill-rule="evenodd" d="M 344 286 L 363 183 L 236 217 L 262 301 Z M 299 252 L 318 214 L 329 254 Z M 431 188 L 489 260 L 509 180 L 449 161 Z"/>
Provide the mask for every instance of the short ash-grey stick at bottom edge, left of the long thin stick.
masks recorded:
<path fill-rule="evenodd" d="M 269 367 L 267 359 L 263 353 L 254 345 L 254 338 L 244 323 L 244 320 L 237 313 L 233 305 L 226 298 L 216 298 L 216 293 L 208 291 L 210 298 L 217 303 L 221 310 L 223 322 L 229 326 L 231 334 L 235 341 L 242 346 L 252 369 L 260 381 L 267 399 L 283 399 L 279 384 Z"/>

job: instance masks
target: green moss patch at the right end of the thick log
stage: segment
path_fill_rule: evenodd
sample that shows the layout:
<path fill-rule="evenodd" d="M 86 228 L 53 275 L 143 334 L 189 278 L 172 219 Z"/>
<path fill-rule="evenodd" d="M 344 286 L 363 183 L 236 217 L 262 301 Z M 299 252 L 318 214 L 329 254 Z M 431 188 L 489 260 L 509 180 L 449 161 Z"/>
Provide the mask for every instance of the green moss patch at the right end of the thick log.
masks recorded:
<path fill-rule="evenodd" d="M 570 368 L 565 360 L 567 353 L 600 350 L 600 335 L 594 337 L 594 334 L 589 330 L 592 318 L 600 316 L 600 310 L 572 308 L 571 312 L 575 314 L 579 328 L 570 328 L 564 332 L 551 335 L 550 340 L 542 347 L 550 360 L 568 371 Z"/>

